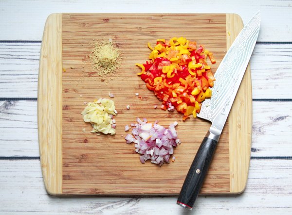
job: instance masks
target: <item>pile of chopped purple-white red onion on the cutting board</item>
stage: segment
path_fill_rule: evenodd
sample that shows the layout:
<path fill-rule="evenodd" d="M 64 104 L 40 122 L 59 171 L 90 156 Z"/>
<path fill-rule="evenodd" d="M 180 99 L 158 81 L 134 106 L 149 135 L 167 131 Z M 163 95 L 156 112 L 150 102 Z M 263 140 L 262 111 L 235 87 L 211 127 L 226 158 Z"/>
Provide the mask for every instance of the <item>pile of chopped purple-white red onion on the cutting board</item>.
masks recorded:
<path fill-rule="evenodd" d="M 137 122 L 137 124 L 131 124 L 134 136 L 128 134 L 125 139 L 126 143 L 135 143 L 135 151 L 141 154 L 141 163 L 144 164 L 148 159 L 151 163 L 158 165 L 163 165 L 164 162 L 169 163 L 170 155 L 174 152 L 173 147 L 180 143 L 175 131 L 178 122 L 171 124 L 168 129 L 158 125 L 158 121 L 155 121 L 152 126 L 152 123 L 147 123 L 145 118 L 143 121 L 137 118 Z M 125 131 L 127 129 L 129 128 L 125 126 Z"/>

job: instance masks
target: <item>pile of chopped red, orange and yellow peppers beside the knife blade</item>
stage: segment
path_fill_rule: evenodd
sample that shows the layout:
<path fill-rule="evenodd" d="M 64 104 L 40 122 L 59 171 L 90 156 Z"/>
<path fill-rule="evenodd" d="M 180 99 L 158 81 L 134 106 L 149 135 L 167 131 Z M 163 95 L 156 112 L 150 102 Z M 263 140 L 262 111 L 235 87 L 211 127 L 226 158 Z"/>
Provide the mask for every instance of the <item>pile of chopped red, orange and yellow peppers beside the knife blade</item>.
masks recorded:
<path fill-rule="evenodd" d="M 211 67 L 207 65 L 209 57 L 216 63 L 213 53 L 203 46 L 197 49 L 196 42 L 186 38 L 173 37 L 169 41 L 157 39 L 156 46 L 151 47 L 146 64 L 136 64 L 142 71 L 138 73 L 146 87 L 162 100 L 161 109 L 182 113 L 183 121 L 189 115 L 200 113 L 201 102 L 212 96 L 209 87 L 215 78 Z"/>

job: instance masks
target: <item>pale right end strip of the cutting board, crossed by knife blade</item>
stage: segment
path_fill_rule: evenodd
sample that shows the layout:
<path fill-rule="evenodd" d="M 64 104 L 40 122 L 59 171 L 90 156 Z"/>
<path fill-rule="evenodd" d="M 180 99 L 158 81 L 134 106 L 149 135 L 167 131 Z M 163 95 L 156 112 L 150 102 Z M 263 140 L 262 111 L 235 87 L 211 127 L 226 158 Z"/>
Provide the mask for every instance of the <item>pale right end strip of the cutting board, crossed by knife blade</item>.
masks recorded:
<path fill-rule="evenodd" d="M 243 28 L 237 14 L 226 14 L 227 50 Z M 238 114 L 241 113 L 241 114 Z M 248 178 L 252 141 L 252 84 L 247 66 L 229 117 L 230 194 L 244 191 Z"/>

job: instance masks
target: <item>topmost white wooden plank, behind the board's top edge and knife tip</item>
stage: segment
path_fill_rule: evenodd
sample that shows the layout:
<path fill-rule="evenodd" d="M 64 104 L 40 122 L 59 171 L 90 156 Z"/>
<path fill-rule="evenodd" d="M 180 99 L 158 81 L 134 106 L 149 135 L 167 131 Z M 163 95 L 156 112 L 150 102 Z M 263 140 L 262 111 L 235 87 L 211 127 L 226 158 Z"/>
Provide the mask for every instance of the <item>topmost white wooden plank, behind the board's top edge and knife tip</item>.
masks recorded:
<path fill-rule="evenodd" d="M 0 40 L 41 40 L 51 13 L 236 13 L 246 23 L 260 10 L 258 41 L 291 41 L 291 6 L 291 0 L 2 0 Z"/>

